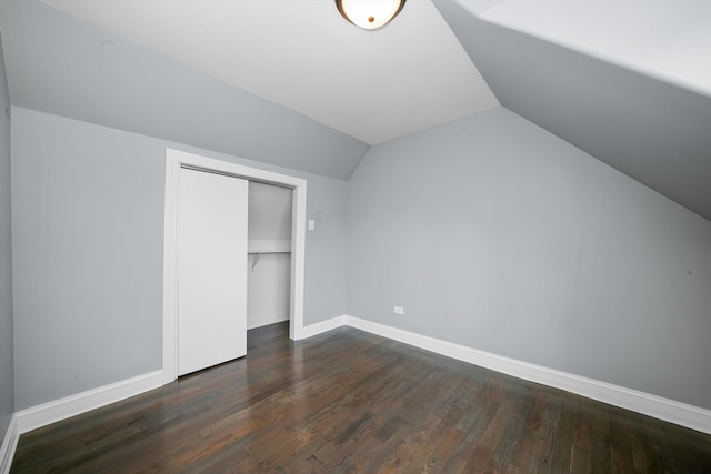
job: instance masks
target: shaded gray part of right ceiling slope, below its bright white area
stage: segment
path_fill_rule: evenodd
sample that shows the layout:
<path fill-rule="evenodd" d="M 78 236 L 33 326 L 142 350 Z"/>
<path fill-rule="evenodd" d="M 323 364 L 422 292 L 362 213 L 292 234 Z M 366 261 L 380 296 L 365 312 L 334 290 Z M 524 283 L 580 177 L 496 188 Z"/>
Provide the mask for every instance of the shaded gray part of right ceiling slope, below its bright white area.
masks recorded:
<path fill-rule="evenodd" d="M 711 220 L 704 75 L 697 75 L 698 87 L 677 85 L 683 81 L 654 79 L 479 18 L 494 3 L 434 0 L 500 103 Z M 699 51 L 692 53 L 708 63 Z"/>

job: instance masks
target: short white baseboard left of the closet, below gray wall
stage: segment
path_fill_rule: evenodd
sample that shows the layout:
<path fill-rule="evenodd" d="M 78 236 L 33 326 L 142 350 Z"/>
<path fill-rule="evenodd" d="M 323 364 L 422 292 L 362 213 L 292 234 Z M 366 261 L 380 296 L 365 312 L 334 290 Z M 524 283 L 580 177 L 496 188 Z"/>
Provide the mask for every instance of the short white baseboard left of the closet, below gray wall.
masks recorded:
<path fill-rule="evenodd" d="M 70 416 L 158 389 L 164 383 L 166 380 L 161 370 L 43 403 L 17 412 L 17 430 L 19 434 L 27 433 Z"/>

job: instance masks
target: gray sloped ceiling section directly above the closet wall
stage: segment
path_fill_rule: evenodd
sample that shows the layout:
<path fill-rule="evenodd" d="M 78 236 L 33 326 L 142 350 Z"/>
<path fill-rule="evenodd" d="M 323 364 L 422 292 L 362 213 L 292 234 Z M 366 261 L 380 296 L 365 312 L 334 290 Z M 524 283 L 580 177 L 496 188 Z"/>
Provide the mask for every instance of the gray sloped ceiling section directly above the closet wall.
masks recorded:
<path fill-rule="evenodd" d="M 348 179 L 370 148 L 38 0 L 0 2 L 13 105 Z"/>

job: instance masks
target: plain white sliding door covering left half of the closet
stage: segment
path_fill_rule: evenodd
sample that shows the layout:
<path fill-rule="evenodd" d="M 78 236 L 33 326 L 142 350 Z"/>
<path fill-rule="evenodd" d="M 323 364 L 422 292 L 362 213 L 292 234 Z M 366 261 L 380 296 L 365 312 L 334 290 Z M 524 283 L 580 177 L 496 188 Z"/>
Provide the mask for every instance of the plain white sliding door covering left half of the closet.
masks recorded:
<path fill-rule="evenodd" d="M 178 375 L 247 354 L 248 181 L 180 170 Z"/>

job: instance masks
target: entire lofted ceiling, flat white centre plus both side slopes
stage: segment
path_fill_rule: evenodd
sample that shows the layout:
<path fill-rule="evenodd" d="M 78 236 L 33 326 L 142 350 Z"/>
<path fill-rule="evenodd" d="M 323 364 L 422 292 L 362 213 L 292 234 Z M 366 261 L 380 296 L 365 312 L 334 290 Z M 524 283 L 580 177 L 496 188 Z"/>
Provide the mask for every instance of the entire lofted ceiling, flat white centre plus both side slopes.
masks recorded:
<path fill-rule="evenodd" d="M 12 104 L 348 179 L 505 107 L 711 220 L 711 2 L 6 0 Z"/>

